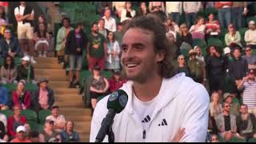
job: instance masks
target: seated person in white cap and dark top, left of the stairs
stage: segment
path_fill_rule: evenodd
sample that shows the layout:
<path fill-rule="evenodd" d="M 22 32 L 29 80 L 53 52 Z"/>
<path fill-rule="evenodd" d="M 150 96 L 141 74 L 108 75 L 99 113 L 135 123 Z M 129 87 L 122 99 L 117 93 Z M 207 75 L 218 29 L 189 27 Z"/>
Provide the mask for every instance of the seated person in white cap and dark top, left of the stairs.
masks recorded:
<path fill-rule="evenodd" d="M 17 68 L 17 80 L 25 80 L 26 83 L 36 83 L 34 80 L 34 66 L 30 64 L 30 57 L 25 56 L 22 58 L 22 64 Z"/>

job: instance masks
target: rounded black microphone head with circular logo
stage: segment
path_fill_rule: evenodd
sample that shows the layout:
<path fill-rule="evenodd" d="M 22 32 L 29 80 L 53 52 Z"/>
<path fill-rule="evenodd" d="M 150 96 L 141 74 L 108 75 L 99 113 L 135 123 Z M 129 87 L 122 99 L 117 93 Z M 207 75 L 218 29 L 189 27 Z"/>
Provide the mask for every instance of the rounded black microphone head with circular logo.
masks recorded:
<path fill-rule="evenodd" d="M 110 94 L 106 107 L 107 109 L 114 109 L 118 114 L 125 109 L 127 102 L 128 94 L 124 90 L 116 90 Z"/>

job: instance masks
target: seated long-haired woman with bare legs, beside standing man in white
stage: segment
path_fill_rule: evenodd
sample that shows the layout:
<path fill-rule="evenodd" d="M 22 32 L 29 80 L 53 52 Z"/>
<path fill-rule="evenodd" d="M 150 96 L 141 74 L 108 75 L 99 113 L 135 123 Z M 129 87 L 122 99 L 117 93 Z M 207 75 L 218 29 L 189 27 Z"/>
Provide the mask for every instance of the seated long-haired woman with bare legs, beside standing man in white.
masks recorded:
<path fill-rule="evenodd" d="M 50 38 L 44 23 L 38 24 L 38 30 L 34 33 L 34 49 L 38 52 L 38 57 L 47 56 L 47 50 L 50 46 Z"/>

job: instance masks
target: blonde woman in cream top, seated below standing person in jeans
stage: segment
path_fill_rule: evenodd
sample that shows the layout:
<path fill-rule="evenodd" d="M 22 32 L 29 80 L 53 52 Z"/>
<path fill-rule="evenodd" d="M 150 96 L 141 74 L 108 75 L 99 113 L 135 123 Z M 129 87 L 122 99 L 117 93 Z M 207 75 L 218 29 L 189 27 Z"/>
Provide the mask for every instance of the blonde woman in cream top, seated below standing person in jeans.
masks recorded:
<path fill-rule="evenodd" d="M 239 33 L 239 31 L 235 30 L 233 24 L 230 24 L 228 26 L 228 30 L 229 32 L 225 34 L 226 46 L 229 46 L 231 50 L 233 50 L 235 46 L 242 47 L 241 34 Z"/>

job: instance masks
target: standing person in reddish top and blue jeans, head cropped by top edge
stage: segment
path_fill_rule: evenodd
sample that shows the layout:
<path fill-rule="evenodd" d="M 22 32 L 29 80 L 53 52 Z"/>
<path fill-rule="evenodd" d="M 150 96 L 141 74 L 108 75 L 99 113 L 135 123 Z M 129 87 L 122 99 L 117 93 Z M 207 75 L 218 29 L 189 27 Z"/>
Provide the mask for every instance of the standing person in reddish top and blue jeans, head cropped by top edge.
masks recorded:
<path fill-rule="evenodd" d="M 231 23 L 232 2 L 216 2 L 215 7 L 218 9 L 218 20 L 222 28 L 226 28 Z"/>

